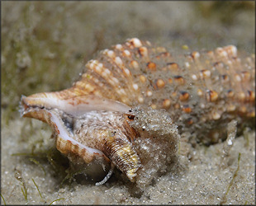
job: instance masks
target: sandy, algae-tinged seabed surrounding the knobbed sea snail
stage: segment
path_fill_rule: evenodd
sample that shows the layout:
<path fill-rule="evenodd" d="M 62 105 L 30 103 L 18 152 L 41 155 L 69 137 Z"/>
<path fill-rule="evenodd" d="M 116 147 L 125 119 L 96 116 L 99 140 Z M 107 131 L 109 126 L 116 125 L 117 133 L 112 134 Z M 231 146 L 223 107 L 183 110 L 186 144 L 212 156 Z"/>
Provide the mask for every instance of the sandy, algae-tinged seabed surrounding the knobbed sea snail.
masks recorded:
<path fill-rule="evenodd" d="M 6 204 L 255 204 L 254 129 L 235 138 L 223 167 L 225 143 L 187 147 L 189 156 L 183 148 L 178 158 L 184 169 L 159 176 L 135 197 L 118 172 L 101 186 L 81 176 L 61 184 L 67 162 L 53 148 L 50 128 L 21 119 L 17 111 L 21 94 L 69 87 L 83 61 L 130 37 L 173 52 L 183 45 L 235 44 L 255 53 L 255 2 L 9 1 L 1 2 L 1 9 L 1 195 Z"/>

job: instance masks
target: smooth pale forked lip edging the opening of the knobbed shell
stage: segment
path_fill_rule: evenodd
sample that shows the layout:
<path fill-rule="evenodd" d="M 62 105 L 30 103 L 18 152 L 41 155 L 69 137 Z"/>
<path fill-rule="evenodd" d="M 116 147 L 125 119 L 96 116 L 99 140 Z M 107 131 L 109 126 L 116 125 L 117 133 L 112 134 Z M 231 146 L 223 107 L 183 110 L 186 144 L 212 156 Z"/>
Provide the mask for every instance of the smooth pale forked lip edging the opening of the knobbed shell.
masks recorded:
<path fill-rule="evenodd" d="M 55 110 L 62 110 L 73 117 L 83 115 L 93 110 L 119 111 L 130 113 L 130 107 L 119 101 L 112 101 L 99 96 L 71 96 L 67 99 L 59 97 L 58 92 L 43 92 L 31 96 L 21 96 L 21 117 L 32 117 L 54 125 L 59 138 L 70 141 L 73 145 L 86 149 L 92 155 L 104 156 L 98 149 L 87 147 L 73 139 L 73 133 L 65 128 L 64 122 Z M 45 117 L 45 115 L 47 117 Z"/>

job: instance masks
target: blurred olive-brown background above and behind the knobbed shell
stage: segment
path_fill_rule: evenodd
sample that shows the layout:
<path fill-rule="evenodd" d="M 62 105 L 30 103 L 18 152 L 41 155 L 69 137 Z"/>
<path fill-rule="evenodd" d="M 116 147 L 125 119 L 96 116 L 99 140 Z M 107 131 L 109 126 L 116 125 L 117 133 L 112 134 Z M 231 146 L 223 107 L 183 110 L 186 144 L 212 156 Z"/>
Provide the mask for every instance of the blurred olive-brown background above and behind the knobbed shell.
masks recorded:
<path fill-rule="evenodd" d="M 138 37 L 175 52 L 255 52 L 255 2 L 1 2 L 2 119 L 21 95 L 70 87 L 101 49 Z"/>

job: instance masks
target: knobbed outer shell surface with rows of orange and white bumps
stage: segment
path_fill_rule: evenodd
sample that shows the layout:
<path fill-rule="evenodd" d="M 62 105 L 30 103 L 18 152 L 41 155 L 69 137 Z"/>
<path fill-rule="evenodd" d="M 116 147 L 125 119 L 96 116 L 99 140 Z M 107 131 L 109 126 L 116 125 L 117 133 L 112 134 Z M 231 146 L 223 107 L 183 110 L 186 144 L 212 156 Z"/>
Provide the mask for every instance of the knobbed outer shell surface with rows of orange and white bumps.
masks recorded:
<path fill-rule="evenodd" d="M 215 143 L 231 119 L 241 125 L 255 117 L 255 56 L 234 45 L 169 53 L 133 38 L 88 61 L 73 90 L 131 107 L 164 108 L 181 133 Z"/>

